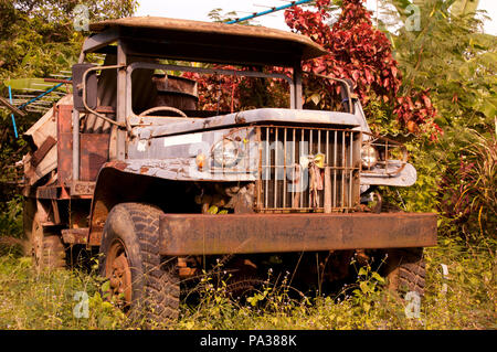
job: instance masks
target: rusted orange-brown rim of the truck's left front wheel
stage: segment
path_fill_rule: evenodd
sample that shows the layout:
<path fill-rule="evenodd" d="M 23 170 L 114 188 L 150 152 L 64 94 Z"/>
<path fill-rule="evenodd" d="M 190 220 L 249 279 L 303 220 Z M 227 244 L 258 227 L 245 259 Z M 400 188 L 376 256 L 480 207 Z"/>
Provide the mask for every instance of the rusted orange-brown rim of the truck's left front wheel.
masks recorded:
<path fill-rule="evenodd" d="M 108 250 L 105 273 L 109 280 L 109 299 L 128 309 L 131 305 L 131 270 L 126 248 L 118 239 Z"/>

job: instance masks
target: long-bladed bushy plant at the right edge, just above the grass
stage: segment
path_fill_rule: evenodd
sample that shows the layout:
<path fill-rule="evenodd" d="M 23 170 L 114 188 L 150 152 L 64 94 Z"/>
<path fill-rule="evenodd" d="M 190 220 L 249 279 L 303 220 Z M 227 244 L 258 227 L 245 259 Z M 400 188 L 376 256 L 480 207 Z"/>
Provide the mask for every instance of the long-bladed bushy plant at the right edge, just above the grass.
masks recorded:
<path fill-rule="evenodd" d="M 450 220 L 447 232 L 477 239 L 497 238 L 497 135 L 480 135 L 473 129 L 454 127 L 444 139 L 446 172 L 438 183 L 440 212 Z M 452 154 L 451 154 L 452 152 Z"/>

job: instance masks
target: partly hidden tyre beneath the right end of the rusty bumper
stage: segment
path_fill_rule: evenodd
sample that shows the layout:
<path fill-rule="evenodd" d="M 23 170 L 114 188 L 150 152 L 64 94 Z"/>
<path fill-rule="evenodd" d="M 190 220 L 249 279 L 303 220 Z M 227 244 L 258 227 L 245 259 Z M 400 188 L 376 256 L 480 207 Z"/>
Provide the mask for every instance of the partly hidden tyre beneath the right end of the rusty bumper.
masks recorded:
<path fill-rule="evenodd" d="M 385 276 L 388 287 L 403 296 L 415 291 L 424 295 L 426 267 L 423 248 L 399 248 L 387 250 Z"/>

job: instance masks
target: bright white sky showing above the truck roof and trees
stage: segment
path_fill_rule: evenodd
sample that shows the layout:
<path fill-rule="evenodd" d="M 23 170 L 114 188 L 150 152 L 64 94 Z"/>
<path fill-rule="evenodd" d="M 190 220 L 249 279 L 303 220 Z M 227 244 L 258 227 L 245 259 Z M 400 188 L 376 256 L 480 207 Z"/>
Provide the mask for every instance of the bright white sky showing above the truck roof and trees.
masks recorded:
<path fill-rule="evenodd" d="M 139 8 L 135 15 L 156 15 L 175 19 L 211 21 L 208 17 L 213 9 L 222 9 L 221 13 L 236 11 L 239 17 L 265 11 L 271 7 L 288 3 L 285 0 L 138 0 Z M 367 8 L 377 9 L 377 0 L 367 0 Z M 497 0 L 479 0 L 478 10 L 487 11 L 490 21 L 485 22 L 484 31 L 497 35 Z M 283 19 L 283 12 L 266 14 L 253 21 L 268 28 L 289 31 Z"/>

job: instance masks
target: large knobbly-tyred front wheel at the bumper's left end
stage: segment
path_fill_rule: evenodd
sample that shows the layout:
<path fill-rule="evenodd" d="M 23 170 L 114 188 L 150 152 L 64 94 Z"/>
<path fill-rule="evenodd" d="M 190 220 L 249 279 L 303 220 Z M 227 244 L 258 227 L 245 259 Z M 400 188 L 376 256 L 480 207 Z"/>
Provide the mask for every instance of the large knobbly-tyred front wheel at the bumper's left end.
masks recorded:
<path fill-rule="evenodd" d="M 152 205 L 116 205 L 99 248 L 99 271 L 108 279 L 105 295 L 147 326 L 177 320 L 179 311 L 177 259 L 159 255 L 160 214 Z"/>

